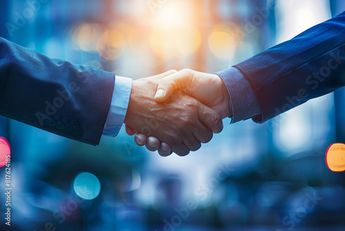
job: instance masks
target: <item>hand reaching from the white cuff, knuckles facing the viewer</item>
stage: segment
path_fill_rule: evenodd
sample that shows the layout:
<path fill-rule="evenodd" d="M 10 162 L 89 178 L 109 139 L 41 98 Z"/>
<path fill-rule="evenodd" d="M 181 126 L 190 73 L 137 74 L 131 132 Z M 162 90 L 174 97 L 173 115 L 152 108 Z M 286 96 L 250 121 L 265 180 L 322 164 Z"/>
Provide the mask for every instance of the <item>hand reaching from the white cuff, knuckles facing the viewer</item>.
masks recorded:
<path fill-rule="evenodd" d="M 155 102 L 158 83 L 168 74 L 133 81 L 125 124 L 146 137 L 159 138 L 185 156 L 199 149 L 201 142 L 210 141 L 213 131 L 221 131 L 223 124 L 219 113 L 181 91 L 165 102 Z"/>

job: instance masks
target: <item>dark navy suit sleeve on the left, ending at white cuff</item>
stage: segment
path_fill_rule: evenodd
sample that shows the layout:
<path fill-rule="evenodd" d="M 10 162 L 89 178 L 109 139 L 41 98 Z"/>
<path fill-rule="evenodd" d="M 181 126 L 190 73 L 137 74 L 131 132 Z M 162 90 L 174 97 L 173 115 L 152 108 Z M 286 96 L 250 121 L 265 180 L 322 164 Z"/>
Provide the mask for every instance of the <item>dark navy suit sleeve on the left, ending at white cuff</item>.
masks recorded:
<path fill-rule="evenodd" d="M 0 38 L 0 115 L 98 145 L 115 75 Z"/>

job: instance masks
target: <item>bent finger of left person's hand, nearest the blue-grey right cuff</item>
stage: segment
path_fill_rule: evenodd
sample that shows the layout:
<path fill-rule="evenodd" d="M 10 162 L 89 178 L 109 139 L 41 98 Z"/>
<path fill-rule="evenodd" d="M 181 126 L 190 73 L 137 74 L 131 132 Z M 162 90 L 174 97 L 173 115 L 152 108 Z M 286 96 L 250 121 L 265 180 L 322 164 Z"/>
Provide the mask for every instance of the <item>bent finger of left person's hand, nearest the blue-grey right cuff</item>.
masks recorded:
<path fill-rule="evenodd" d="M 223 130 L 221 115 L 219 115 L 217 111 L 214 111 L 201 103 L 199 103 L 199 120 L 205 124 L 206 127 L 211 129 L 213 133 L 219 133 Z"/>

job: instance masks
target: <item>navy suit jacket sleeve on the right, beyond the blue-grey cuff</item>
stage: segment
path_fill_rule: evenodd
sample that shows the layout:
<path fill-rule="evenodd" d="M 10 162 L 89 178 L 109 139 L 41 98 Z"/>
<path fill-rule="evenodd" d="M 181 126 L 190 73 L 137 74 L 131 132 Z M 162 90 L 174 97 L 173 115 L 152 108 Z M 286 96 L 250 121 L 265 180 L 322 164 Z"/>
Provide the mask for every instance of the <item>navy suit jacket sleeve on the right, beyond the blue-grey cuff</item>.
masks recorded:
<path fill-rule="evenodd" d="M 335 91 L 345 85 L 345 12 L 234 67 L 259 104 L 255 122 Z"/>

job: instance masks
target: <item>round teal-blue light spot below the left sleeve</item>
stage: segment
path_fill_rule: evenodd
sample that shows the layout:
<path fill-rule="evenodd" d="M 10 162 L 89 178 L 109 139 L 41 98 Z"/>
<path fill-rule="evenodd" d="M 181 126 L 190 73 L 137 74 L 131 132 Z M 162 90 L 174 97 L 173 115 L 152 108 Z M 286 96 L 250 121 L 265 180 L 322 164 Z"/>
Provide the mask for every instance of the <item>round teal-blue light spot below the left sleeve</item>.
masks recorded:
<path fill-rule="evenodd" d="M 73 182 L 73 190 L 83 199 L 92 200 L 96 198 L 101 191 L 101 183 L 97 176 L 89 172 L 78 174 Z"/>

